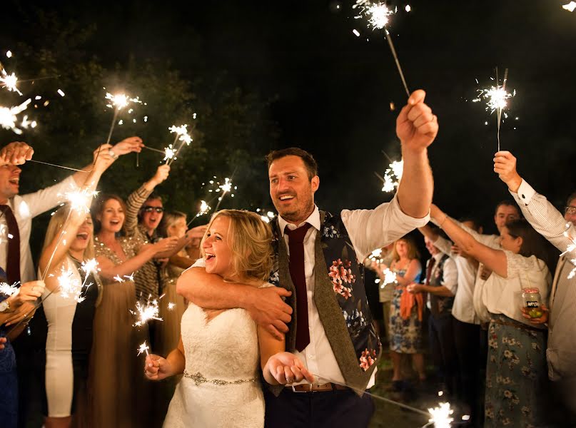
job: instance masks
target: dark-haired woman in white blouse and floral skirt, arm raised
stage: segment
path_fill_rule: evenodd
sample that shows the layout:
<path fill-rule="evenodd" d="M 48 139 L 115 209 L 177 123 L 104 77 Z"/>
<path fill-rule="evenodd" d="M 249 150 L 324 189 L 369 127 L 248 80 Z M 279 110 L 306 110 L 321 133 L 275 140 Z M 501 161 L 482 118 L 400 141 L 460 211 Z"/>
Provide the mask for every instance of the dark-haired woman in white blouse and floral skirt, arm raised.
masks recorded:
<path fill-rule="evenodd" d="M 462 250 L 492 271 L 480 290 L 481 319 L 490 320 L 486 367 L 485 427 L 545 424 L 545 337 L 543 326 L 522 317 L 522 290 L 537 290 L 547 303 L 552 277 L 551 253 L 526 220 L 500 229 L 502 249 L 479 243 L 431 205 L 430 215 Z M 478 284 L 476 285 L 478 287 Z"/>

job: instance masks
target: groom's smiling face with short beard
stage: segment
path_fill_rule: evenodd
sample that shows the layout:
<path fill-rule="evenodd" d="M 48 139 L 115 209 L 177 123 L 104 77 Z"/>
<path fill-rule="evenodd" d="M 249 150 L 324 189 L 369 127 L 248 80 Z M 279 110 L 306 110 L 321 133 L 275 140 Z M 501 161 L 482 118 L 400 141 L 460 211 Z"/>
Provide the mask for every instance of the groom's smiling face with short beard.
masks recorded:
<path fill-rule="evenodd" d="M 268 169 L 270 196 L 278 214 L 290 223 L 302 223 L 314 210 L 314 193 L 319 179 L 310 179 L 302 158 L 284 156 Z"/>

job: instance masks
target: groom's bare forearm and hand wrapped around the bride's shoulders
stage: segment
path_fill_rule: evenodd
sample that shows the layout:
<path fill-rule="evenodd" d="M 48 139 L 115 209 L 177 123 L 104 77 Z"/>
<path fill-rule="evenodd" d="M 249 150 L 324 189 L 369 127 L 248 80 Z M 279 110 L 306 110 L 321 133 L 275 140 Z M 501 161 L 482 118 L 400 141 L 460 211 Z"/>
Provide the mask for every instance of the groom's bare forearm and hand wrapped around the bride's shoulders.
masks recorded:
<path fill-rule="evenodd" d="M 226 282 L 203 267 L 191 267 L 178 278 L 176 292 L 206 309 L 247 310 L 254 321 L 278 339 L 288 332 L 292 308 L 282 297 L 291 292 L 282 287 L 256 288 L 241 282 Z"/>

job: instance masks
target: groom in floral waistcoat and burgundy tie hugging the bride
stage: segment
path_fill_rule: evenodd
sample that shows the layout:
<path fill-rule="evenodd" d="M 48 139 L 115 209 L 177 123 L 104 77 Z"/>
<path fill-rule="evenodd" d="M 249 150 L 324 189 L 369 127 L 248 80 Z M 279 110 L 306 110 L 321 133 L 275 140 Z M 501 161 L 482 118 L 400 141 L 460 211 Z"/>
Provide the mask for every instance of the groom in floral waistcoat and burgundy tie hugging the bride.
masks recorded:
<path fill-rule="evenodd" d="M 320 179 L 313 157 L 299 148 L 267 156 L 270 195 L 278 210 L 271 223 L 275 263 L 270 281 L 278 287 L 225 283 L 201 267 L 178 280 L 178 292 L 201 307 L 243 307 L 276 333 L 286 331 L 280 320 L 288 322 L 286 350 L 318 379 L 310 385 L 295 377 L 287 379 L 290 387 L 266 388 L 267 427 L 365 427 L 370 421 L 373 404 L 362 392 L 374 384 L 381 345 L 358 260 L 428 221 L 433 178 L 427 148 L 438 133 L 438 120 L 424 98 L 424 91 L 415 91 L 400 111 L 396 132 L 403 178 L 395 198 L 374 210 L 338 215 L 318 210 L 314 193 Z M 290 307 L 281 297 L 288 297 Z M 266 318 L 259 305 L 277 315 Z"/>

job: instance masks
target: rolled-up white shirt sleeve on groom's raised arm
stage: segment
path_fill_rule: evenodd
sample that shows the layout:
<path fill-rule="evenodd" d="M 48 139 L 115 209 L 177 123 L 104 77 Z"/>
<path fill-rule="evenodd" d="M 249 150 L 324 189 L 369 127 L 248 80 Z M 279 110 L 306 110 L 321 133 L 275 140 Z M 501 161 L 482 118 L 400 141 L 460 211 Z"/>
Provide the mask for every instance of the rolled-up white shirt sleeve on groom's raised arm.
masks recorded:
<path fill-rule="evenodd" d="M 413 218 L 403 213 L 396 196 L 373 210 L 342 210 L 340 215 L 358 260 L 364 260 L 376 248 L 402 238 L 430 220 L 430 214 L 424 218 Z"/>

